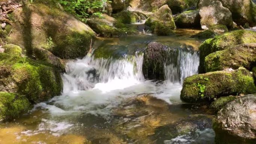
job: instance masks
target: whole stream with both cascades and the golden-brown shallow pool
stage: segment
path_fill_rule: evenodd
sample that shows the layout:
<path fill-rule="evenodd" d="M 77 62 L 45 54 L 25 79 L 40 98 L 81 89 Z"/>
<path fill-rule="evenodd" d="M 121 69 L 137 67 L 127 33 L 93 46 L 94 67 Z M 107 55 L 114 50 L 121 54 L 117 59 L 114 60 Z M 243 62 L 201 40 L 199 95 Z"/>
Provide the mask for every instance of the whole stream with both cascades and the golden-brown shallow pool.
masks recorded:
<path fill-rule="evenodd" d="M 179 51 L 164 82 L 143 77 L 141 52 L 150 41 Z M 98 40 L 95 56 L 66 64 L 61 96 L 0 125 L 0 144 L 213 144 L 211 115 L 179 98 L 182 80 L 197 73 L 191 49 L 199 42 L 188 35 Z"/>

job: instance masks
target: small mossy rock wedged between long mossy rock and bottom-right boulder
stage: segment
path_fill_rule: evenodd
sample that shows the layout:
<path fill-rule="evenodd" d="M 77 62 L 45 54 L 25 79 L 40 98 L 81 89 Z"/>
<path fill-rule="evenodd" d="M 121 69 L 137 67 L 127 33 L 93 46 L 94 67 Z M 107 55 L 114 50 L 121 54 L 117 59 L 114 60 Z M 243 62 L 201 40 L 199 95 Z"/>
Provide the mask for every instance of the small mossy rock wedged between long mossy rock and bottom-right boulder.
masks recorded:
<path fill-rule="evenodd" d="M 229 102 L 237 99 L 237 96 L 223 96 L 216 99 L 214 102 L 211 103 L 210 109 L 213 113 L 217 113 L 220 109 L 222 109 L 226 104 Z"/>

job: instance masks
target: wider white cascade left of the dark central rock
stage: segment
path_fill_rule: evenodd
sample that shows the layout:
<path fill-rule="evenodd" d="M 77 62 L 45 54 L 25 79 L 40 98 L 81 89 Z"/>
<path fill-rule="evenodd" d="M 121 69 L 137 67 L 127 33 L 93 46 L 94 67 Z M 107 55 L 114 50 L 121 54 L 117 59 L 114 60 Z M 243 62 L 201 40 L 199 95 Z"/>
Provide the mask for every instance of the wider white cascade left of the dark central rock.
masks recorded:
<path fill-rule="evenodd" d="M 125 55 L 120 59 L 95 59 L 94 56 L 85 56 L 66 64 L 63 75 L 63 93 L 83 91 L 94 88 L 100 83 L 110 83 L 115 80 L 142 81 L 143 55 Z"/>

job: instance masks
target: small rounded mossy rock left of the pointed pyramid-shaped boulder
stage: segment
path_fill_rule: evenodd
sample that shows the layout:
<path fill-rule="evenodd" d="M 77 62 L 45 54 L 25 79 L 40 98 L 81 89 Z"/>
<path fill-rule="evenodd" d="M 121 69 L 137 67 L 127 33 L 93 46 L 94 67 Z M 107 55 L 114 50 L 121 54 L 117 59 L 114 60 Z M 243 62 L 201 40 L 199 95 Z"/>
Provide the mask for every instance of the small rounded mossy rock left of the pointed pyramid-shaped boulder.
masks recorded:
<path fill-rule="evenodd" d="M 112 15 L 118 22 L 124 24 L 132 24 L 138 22 L 140 17 L 135 12 L 131 12 L 129 10 L 123 10 L 122 12 L 116 13 Z"/>

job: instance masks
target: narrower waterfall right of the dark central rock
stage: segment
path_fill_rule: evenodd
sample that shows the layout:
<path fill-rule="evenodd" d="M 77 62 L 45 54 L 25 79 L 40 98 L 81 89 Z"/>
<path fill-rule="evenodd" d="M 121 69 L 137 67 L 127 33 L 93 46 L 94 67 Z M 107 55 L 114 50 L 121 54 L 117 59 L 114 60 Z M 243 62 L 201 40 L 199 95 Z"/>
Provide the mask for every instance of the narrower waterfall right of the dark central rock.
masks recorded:
<path fill-rule="evenodd" d="M 169 52 L 169 57 L 164 64 L 165 80 L 183 83 L 186 77 L 198 73 L 199 56 L 197 52 L 175 49 Z"/>

